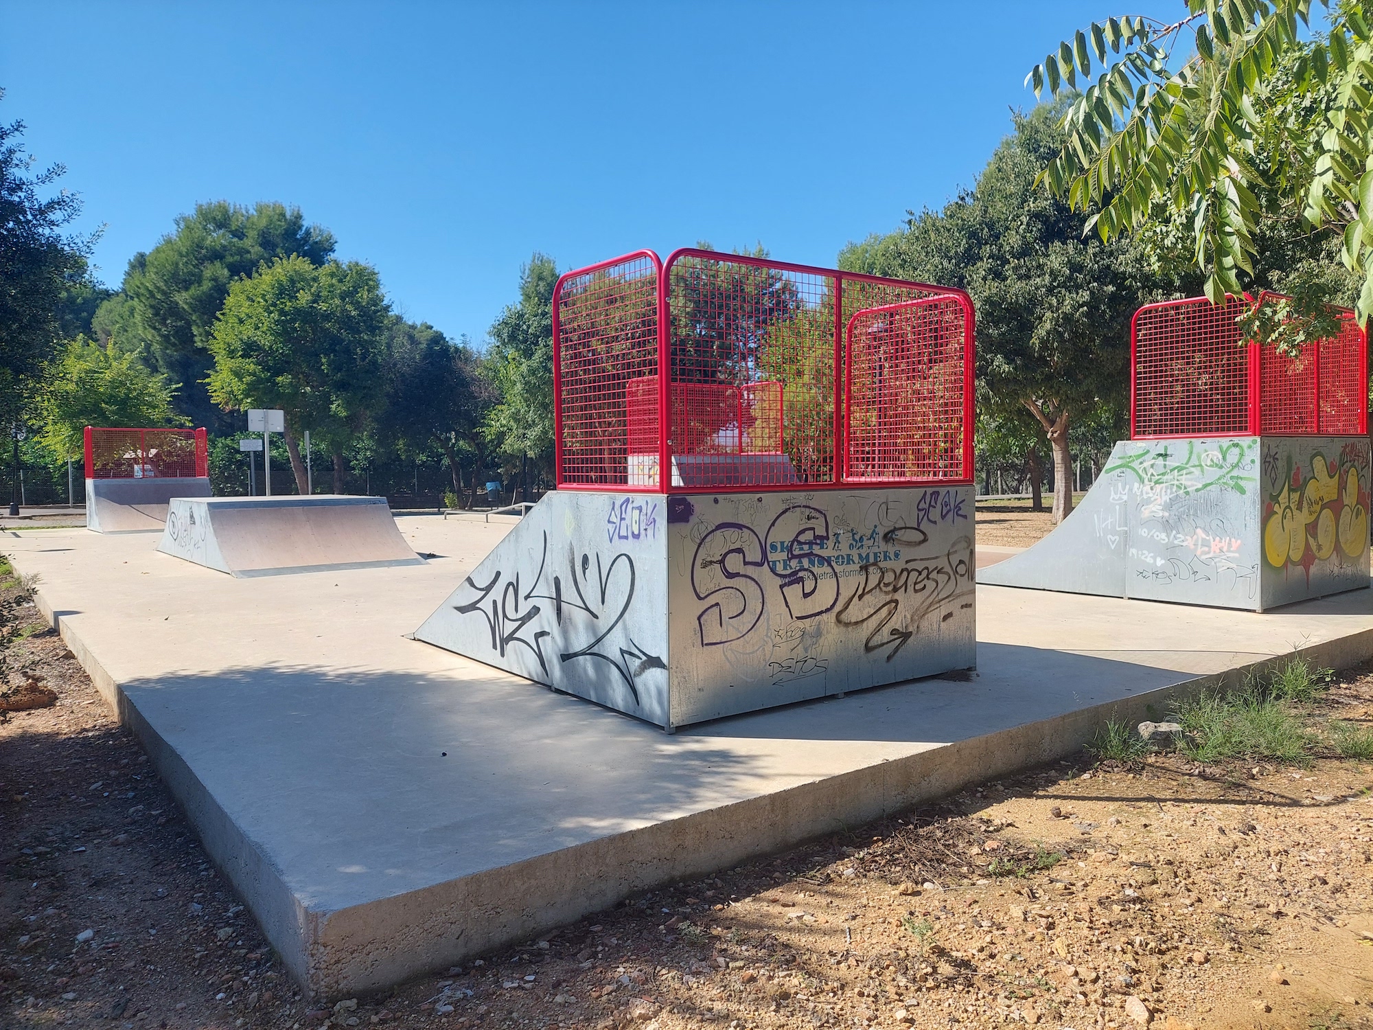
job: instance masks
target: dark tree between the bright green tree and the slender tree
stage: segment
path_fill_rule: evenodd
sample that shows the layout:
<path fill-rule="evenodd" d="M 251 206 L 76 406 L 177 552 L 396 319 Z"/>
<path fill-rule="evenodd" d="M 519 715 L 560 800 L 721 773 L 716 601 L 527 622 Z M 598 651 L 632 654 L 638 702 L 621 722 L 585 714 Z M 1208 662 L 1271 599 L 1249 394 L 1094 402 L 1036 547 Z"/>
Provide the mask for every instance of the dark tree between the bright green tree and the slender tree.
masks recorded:
<path fill-rule="evenodd" d="M 463 496 L 463 456 L 472 459 L 472 499 L 486 460 L 486 416 L 496 386 L 467 341 L 452 342 L 428 323 L 395 319 L 387 334 L 384 430 L 401 449 L 438 448 L 453 493 Z"/>

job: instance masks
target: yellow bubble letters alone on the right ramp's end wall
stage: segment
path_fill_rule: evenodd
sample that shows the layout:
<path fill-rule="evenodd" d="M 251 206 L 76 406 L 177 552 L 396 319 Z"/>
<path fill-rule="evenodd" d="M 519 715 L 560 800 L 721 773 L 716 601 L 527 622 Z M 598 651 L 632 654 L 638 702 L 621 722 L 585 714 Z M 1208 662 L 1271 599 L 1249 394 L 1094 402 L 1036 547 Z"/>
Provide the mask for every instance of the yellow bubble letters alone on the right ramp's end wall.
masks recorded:
<path fill-rule="evenodd" d="M 1273 514 L 1263 527 L 1263 553 L 1269 564 L 1300 564 L 1307 547 L 1317 562 L 1335 553 L 1358 558 L 1368 547 L 1369 516 L 1359 500 L 1359 477 L 1355 468 L 1344 474 L 1344 504 L 1339 520 L 1325 507 L 1340 497 L 1340 472 L 1330 471 L 1322 455 L 1311 459 L 1311 478 L 1304 488 L 1285 485 L 1273 501 Z M 1311 525 L 1315 523 L 1314 531 Z"/>

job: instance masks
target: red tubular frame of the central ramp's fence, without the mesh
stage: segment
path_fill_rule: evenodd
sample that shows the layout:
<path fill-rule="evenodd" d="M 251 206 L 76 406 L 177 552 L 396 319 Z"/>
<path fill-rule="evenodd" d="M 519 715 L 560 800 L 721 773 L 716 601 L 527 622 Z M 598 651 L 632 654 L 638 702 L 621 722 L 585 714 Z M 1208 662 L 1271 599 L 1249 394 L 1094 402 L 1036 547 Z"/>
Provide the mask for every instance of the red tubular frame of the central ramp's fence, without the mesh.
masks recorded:
<path fill-rule="evenodd" d="M 654 264 L 654 271 L 658 276 L 658 485 L 656 486 L 643 486 L 643 485 L 629 485 L 629 483 L 571 483 L 564 481 L 563 470 L 563 367 L 562 367 L 562 334 L 560 334 L 560 301 L 563 295 L 563 286 L 571 279 L 586 276 L 599 272 L 614 265 L 625 264 L 638 258 L 649 258 Z M 789 272 L 794 275 L 816 276 L 822 279 L 829 279 L 833 283 L 833 305 L 835 305 L 835 324 L 833 324 L 833 468 L 831 472 L 831 479 L 820 482 L 796 482 L 796 483 L 750 483 L 741 486 L 674 486 L 671 482 L 671 468 L 673 468 L 673 439 L 671 439 L 671 271 L 673 266 L 682 260 L 702 258 L 707 261 L 728 261 L 735 265 L 752 265 L 757 268 L 766 268 L 776 272 Z M 887 286 L 901 290 L 923 290 L 930 294 L 927 298 L 932 297 L 957 297 L 962 310 L 964 310 L 964 339 L 965 339 L 965 353 L 964 353 L 964 386 L 962 386 L 962 419 L 964 419 L 964 439 L 962 439 L 962 475 L 960 478 L 949 479 L 901 479 L 901 481 L 858 481 L 846 482 L 844 479 L 844 461 L 847 460 L 847 376 L 846 376 L 846 361 L 844 361 L 844 346 L 846 346 L 846 330 L 847 324 L 844 320 L 844 286 L 846 283 L 870 283 L 877 286 Z M 913 301 L 905 301 L 902 304 L 912 304 Z M 954 486 L 967 485 L 972 482 L 972 461 L 973 461 L 973 386 L 975 386 L 975 331 L 976 331 L 976 317 L 972 309 L 972 301 L 968 294 L 962 290 L 945 286 L 932 286 L 928 283 L 913 283 L 899 279 L 884 279 L 881 276 L 862 275 L 858 272 L 842 272 L 832 268 L 818 268 L 814 265 L 798 265 L 785 261 L 772 261 L 768 258 L 755 258 L 744 254 L 722 254 L 714 250 L 699 250 L 696 247 L 681 247 L 671 251 L 666 261 L 660 261 L 658 254 L 652 250 L 633 250 L 627 254 L 621 254 L 619 257 L 610 258 L 608 261 L 600 261 L 595 265 L 588 265 L 585 268 L 577 268 L 570 272 L 564 272 L 557 284 L 553 287 L 553 437 L 555 437 L 555 475 L 557 482 L 557 489 L 560 490 L 592 490 L 592 492 L 605 492 L 616 490 L 626 493 L 763 493 L 763 492 L 781 492 L 781 490 L 816 490 L 816 489 L 879 489 L 883 486 L 891 486 L 895 482 L 909 486 Z M 883 305 L 879 305 L 883 306 Z M 899 306 L 899 305 L 897 305 Z M 865 309 L 868 310 L 868 309 Z M 785 405 L 785 400 L 783 400 Z M 741 431 L 741 428 L 740 428 Z"/>

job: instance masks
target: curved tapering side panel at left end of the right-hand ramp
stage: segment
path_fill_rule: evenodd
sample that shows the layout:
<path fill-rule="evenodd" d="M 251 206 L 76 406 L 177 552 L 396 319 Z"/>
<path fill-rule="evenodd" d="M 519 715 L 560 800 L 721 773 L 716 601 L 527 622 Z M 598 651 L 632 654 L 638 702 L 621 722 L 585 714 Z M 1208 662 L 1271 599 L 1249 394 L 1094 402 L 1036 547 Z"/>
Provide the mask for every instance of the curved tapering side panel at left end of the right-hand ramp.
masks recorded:
<path fill-rule="evenodd" d="M 1082 503 L 1031 548 L 978 570 L 978 582 L 1035 591 L 1126 596 L 1126 549 L 1130 545 L 1130 483 L 1118 459 L 1129 441 L 1111 452 L 1107 468 Z"/>

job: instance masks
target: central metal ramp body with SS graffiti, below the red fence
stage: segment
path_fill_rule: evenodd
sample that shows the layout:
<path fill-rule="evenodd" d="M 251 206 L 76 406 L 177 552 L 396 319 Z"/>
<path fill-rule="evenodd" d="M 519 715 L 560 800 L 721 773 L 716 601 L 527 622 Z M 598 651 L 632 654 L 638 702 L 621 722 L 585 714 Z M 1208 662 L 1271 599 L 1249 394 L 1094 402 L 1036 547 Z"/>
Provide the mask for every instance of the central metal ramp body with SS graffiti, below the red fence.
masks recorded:
<path fill-rule="evenodd" d="M 976 663 L 971 486 L 555 492 L 415 633 L 665 728 Z"/>

